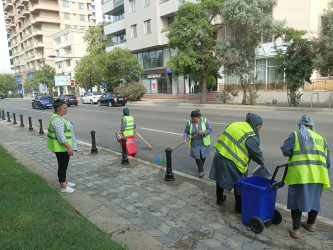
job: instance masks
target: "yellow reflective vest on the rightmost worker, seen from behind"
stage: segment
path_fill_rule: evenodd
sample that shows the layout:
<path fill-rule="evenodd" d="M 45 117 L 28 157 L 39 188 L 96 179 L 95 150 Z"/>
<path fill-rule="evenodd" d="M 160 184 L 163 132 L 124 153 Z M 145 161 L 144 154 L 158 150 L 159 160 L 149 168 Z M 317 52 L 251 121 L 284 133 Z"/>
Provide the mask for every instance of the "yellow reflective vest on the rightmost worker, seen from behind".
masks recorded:
<path fill-rule="evenodd" d="M 323 190 L 330 188 L 330 180 L 326 165 L 327 141 L 312 130 L 308 130 L 313 138 L 314 149 L 302 145 L 300 131 L 294 131 L 295 145 L 293 155 L 288 160 L 288 172 L 284 180 L 286 185 L 322 183 Z"/>

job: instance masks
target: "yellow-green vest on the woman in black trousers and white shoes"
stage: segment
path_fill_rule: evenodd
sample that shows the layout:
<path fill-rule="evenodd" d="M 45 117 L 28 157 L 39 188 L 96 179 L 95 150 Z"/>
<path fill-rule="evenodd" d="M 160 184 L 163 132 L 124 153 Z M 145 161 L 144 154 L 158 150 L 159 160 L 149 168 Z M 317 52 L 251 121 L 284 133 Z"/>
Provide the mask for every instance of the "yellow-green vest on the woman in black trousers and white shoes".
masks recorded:
<path fill-rule="evenodd" d="M 55 118 L 60 118 L 62 120 L 62 122 L 65 125 L 64 135 L 67 139 L 67 142 L 68 142 L 69 146 L 71 146 L 71 147 L 73 144 L 72 143 L 72 131 L 70 130 L 69 126 L 67 125 L 65 119 L 59 115 L 54 114 L 54 115 L 52 115 L 50 123 L 49 123 L 46 147 L 53 152 L 67 152 L 67 148 L 64 145 L 59 143 L 59 141 L 57 139 L 57 135 L 55 134 L 54 128 L 52 126 L 52 122 Z"/>

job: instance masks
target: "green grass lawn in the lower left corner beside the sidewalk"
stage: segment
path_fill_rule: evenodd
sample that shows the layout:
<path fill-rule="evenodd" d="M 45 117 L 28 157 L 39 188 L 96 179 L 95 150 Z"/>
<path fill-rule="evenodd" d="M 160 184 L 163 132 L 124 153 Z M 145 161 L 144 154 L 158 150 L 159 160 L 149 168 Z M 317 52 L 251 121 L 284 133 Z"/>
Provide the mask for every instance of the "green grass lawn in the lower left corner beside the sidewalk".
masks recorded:
<path fill-rule="evenodd" d="M 0 146 L 0 249 L 128 249 Z"/>

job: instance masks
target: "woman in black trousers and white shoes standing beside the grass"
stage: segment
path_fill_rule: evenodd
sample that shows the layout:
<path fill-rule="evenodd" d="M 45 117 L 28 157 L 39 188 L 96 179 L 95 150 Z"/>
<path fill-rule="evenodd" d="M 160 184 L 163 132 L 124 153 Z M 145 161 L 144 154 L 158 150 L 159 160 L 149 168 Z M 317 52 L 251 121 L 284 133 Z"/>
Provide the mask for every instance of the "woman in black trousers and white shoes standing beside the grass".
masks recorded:
<path fill-rule="evenodd" d="M 75 184 L 67 181 L 66 174 L 69 158 L 73 156 L 73 151 L 77 151 L 77 144 L 73 124 L 63 117 L 66 114 L 67 104 L 64 101 L 55 101 L 54 114 L 48 127 L 47 148 L 57 157 L 60 191 L 72 193 Z"/>

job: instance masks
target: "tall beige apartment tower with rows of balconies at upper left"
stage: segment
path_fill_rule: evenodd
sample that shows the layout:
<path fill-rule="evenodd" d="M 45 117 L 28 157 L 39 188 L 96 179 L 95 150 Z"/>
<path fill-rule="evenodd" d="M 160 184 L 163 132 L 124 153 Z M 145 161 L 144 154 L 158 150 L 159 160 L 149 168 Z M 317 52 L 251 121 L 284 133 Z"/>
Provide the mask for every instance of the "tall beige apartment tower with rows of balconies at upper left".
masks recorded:
<path fill-rule="evenodd" d="M 9 49 L 16 82 L 27 77 L 44 63 L 54 67 L 53 35 L 60 30 L 86 30 L 91 0 L 3 0 Z"/>

